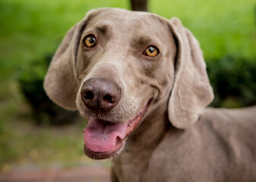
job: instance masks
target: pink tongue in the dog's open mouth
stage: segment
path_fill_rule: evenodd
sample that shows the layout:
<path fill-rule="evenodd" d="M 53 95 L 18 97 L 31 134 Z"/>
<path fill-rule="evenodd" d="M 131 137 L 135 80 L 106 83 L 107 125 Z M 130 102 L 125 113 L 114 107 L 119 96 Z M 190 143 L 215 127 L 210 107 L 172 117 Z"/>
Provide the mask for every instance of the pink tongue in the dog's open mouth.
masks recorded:
<path fill-rule="evenodd" d="M 117 138 L 124 139 L 128 122 L 110 123 L 90 118 L 84 128 L 84 143 L 93 152 L 110 152 L 117 146 Z"/>

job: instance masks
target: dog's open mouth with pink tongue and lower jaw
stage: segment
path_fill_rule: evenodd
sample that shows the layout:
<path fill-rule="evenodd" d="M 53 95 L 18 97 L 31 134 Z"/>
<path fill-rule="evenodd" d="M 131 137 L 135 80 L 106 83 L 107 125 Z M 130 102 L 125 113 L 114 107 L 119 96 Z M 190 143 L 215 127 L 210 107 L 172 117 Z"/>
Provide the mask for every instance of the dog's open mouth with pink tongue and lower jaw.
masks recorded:
<path fill-rule="evenodd" d="M 150 99 L 151 100 L 151 99 Z M 122 152 L 125 139 L 140 123 L 150 101 L 129 121 L 110 122 L 90 118 L 84 128 L 84 154 L 93 159 L 113 158 Z"/>

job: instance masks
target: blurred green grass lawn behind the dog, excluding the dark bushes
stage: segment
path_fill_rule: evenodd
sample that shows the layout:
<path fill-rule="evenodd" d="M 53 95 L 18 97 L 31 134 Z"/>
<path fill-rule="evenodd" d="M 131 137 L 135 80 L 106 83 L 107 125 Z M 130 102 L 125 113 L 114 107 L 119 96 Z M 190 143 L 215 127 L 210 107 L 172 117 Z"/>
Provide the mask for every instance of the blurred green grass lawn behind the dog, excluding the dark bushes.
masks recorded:
<path fill-rule="evenodd" d="M 254 0 L 150 0 L 150 11 L 179 17 L 201 42 L 207 58 L 254 58 Z M 0 1 L 0 166 L 85 160 L 84 121 L 68 127 L 36 127 L 17 86 L 19 68 L 52 53 L 67 30 L 92 8 L 129 8 L 127 0 Z M 33 69 L 33 67 L 31 67 Z"/>

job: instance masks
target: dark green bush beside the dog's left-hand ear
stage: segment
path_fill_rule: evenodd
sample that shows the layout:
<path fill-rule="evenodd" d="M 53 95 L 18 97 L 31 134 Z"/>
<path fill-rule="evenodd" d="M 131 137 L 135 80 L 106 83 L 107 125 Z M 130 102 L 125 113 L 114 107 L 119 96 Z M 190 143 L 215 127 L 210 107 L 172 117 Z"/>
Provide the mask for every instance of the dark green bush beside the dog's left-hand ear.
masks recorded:
<path fill-rule="evenodd" d="M 30 104 L 37 124 L 68 124 L 77 118 L 77 112 L 66 111 L 55 105 L 43 90 L 43 79 L 52 55 L 21 68 L 19 84 L 22 93 Z"/>

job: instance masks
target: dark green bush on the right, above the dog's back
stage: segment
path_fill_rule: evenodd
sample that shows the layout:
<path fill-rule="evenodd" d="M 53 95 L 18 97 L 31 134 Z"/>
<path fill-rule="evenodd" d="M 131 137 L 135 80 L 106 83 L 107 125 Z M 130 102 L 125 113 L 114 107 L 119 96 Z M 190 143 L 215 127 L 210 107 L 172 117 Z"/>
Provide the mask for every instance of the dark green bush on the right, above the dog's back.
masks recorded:
<path fill-rule="evenodd" d="M 226 56 L 207 60 L 215 99 L 211 106 L 238 108 L 256 104 L 256 63 Z"/>

